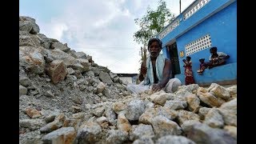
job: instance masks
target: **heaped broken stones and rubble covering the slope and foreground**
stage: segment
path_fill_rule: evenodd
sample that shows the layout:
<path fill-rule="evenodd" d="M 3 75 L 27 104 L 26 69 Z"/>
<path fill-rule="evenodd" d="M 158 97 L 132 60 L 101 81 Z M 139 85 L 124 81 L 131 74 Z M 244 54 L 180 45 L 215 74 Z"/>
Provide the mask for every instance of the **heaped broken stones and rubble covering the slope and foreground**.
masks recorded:
<path fill-rule="evenodd" d="M 20 143 L 237 143 L 237 86 L 130 94 L 92 56 L 19 18 Z"/>

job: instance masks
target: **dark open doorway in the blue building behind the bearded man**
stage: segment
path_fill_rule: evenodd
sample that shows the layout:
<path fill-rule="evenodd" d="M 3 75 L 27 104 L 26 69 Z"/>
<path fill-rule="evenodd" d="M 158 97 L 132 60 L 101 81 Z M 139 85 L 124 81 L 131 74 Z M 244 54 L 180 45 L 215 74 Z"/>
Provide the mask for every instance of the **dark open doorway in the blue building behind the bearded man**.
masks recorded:
<path fill-rule="evenodd" d="M 174 78 L 175 74 L 181 74 L 181 69 L 178 61 L 178 49 L 177 49 L 176 42 L 168 46 L 168 51 L 170 54 L 170 62 L 172 63 L 172 76 Z"/>

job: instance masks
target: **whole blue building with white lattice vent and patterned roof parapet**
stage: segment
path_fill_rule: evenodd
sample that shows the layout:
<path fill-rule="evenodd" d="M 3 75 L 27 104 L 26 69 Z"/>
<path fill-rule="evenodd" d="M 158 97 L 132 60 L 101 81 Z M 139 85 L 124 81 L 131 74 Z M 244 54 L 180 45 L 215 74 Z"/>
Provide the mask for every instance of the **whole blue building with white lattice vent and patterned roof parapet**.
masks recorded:
<path fill-rule="evenodd" d="M 162 54 L 170 58 L 172 73 L 185 83 L 182 59 L 190 56 L 194 80 L 198 85 L 235 84 L 237 81 L 237 1 L 196 0 L 182 11 L 157 38 L 162 40 Z M 209 62 L 210 48 L 230 55 L 226 65 L 197 74 L 199 59 Z"/>

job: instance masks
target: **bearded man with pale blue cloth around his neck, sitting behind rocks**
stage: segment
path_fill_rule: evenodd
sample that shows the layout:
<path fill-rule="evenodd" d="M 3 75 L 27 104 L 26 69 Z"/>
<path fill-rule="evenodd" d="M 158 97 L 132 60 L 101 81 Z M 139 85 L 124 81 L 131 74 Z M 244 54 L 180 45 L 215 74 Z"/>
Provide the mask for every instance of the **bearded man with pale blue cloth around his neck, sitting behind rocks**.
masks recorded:
<path fill-rule="evenodd" d="M 178 90 L 178 86 L 182 85 L 182 82 L 178 78 L 171 77 L 170 59 L 164 58 L 160 54 L 162 42 L 158 38 L 151 38 L 148 42 L 148 50 L 150 57 L 146 59 L 146 66 L 142 62 L 141 74 L 138 76 L 142 82 L 139 85 L 127 85 L 127 90 L 139 93 L 152 88 L 154 92 L 165 90 L 167 93 L 174 93 Z M 142 74 L 143 71 L 146 74 Z"/>

